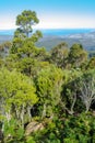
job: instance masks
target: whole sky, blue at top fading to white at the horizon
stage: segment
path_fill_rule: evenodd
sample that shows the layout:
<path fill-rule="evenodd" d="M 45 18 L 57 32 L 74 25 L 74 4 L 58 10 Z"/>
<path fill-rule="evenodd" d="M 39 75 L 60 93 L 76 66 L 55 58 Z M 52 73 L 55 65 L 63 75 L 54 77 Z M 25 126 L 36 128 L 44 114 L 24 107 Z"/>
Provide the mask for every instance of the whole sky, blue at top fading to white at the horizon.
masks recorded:
<path fill-rule="evenodd" d="M 95 29 L 95 0 L 0 0 L 0 30 L 15 29 L 24 10 L 37 13 L 36 29 Z"/>

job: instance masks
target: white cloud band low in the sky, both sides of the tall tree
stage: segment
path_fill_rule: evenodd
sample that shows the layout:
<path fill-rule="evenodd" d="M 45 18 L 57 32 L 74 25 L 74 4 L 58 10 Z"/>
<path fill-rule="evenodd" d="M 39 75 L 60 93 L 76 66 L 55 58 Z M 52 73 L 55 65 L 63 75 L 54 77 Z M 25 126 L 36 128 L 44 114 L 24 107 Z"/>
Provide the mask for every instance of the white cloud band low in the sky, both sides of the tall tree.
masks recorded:
<path fill-rule="evenodd" d="M 15 16 L 0 16 L 0 30 L 15 29 Z M 61 29 L 61 28 L 95 28 L 95 19 L 92 16 L 80 15 L 39 15 L 37 29 Z"/>

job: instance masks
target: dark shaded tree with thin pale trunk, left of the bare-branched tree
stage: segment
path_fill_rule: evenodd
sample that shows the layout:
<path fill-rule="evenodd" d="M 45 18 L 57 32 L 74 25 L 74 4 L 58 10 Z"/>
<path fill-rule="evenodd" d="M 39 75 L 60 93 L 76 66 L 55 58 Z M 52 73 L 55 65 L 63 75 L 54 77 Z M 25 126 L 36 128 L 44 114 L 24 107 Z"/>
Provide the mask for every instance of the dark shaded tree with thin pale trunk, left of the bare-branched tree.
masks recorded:
<path fill-rule="evenodd" d="M 79 100 L 79 77 L 82 76 L 81 69 L 63 70 L 63 90 L 62 102 L 64 102 L 64 109 L 69 114 L 73 114 L 75 111 L 75 105 Z"/>

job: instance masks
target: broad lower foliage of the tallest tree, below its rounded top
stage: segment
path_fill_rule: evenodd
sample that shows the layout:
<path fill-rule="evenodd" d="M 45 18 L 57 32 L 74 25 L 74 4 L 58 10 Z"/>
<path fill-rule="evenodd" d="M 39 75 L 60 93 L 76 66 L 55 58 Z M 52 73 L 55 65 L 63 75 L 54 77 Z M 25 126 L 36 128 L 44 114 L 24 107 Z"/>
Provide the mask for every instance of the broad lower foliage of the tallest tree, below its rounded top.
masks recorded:
<path fill-rule="evenodd" d="M 45 48 L 37 48 L 35 42 L 41 36 L 39 31 L 36 31 L 31 37 L 15 36 L 13 38 L 10 56 L 5 64 L 8 68 L 16 68 L 19 72 L 33 76 L 38 73 L 39 62 L 47 57 Z"/>

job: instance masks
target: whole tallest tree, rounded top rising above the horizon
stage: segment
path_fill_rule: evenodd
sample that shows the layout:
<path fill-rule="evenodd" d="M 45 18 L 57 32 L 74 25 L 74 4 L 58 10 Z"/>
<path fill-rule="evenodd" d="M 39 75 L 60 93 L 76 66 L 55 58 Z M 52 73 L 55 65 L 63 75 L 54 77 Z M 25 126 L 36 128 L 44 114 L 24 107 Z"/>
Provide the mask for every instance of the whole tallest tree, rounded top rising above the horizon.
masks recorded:
<path fill-rule="evenodd" d="M 35 76 L 37 63 L 44 61 L 47 55 L 44 47 L 36 47 L 36 42 L 43 36 L 40 31 L 33 32 L 33 25 L 38 21 L 34 11 L 23 11 L 16 16 L 20 28 L 14 32 L 10 56 L 5 61 L 8 67 L 15 67 L 27 76 Z"/>

